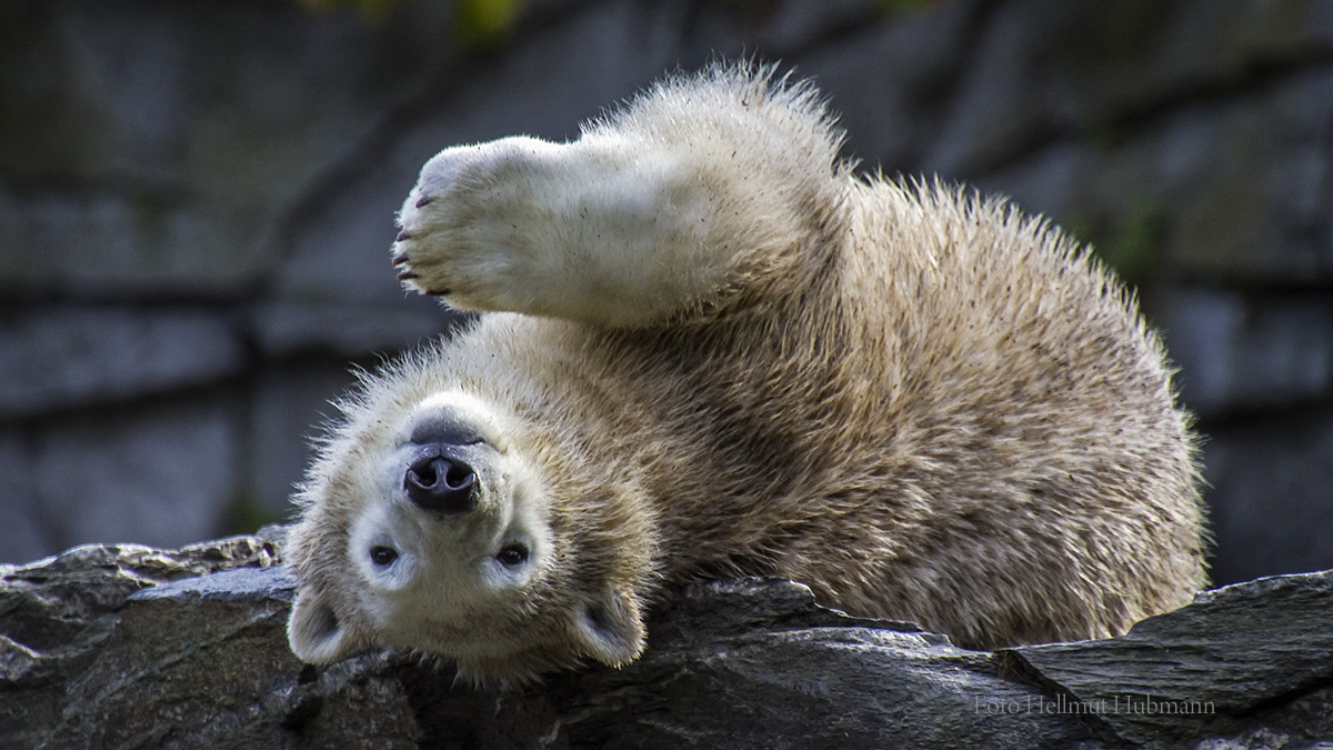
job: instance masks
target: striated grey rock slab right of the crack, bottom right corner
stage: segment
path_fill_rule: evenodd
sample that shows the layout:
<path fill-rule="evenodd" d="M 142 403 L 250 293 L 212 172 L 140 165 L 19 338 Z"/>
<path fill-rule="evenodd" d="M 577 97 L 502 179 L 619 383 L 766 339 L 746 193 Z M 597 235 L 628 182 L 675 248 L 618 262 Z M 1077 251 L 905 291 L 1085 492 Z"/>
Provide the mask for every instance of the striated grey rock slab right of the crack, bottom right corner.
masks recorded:
<path fill-rule="evenodd" d="M 1330 593 L 1333 571 L 1261 578 L 1205 591 L 1121 638 L 1001 654 L 1134 743 L 1258 729 L 1330 738 Z"/>

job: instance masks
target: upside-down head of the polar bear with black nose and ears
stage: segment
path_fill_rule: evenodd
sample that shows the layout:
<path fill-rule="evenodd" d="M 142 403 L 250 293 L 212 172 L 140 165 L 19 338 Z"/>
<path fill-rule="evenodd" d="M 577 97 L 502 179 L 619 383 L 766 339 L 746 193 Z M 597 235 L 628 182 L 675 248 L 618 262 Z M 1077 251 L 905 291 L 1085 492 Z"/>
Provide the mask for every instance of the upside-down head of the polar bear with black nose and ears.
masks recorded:
<path fill-rule="evenodd" d="M 469 394 L 400 411 L 349 422 L 311 470 L 285 552 L 296 655 L 396 646 L 497 683 L 637 657 L 644 593 L 579 460 Z"/>

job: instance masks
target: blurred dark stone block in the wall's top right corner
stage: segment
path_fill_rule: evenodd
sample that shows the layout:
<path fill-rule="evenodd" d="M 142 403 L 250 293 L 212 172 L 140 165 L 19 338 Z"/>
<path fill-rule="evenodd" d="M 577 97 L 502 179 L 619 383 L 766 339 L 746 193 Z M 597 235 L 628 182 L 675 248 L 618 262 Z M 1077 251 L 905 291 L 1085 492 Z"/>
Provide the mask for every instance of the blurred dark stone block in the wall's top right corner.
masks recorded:
<path fill-rule="evenodd" d="M 1037 143 L 1113 129 L 1184 92 L 1317 56 L 1333 39 L 1333 13 L 1318 3 L 1032 0 L 990 11 L 974 15 L 966 75 L 928 171 L 976 175 Z"/>

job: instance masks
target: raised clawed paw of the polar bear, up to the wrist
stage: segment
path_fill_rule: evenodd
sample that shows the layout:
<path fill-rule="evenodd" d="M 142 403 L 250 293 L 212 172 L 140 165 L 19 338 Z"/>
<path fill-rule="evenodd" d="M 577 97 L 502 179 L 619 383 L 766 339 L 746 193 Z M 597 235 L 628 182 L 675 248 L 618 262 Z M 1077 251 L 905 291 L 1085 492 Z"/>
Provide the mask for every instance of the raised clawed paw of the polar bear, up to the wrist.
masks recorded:
<path fill-rule="evenodd" d="M 441 151 L 399 214 L 393 266 L 407 288 L 461 310 L 520 310 L 552 224 L 547 184 L 560 144 L 508 137 Z"/>

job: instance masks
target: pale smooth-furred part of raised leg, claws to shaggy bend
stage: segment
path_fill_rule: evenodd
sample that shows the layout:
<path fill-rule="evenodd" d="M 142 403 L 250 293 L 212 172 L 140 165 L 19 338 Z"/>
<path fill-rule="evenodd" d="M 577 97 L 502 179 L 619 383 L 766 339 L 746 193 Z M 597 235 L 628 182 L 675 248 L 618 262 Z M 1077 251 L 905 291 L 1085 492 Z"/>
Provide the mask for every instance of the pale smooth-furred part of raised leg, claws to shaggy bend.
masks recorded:
<path fill-rule="evenodd" d="M 697 159 L 624 139 L 449 148 L 403 207 L 395 263 L 463 310 L 648 324 L 733 275 L 717 188 Z"/>

